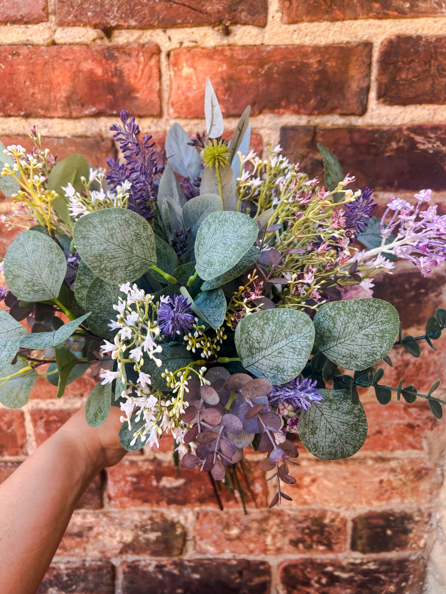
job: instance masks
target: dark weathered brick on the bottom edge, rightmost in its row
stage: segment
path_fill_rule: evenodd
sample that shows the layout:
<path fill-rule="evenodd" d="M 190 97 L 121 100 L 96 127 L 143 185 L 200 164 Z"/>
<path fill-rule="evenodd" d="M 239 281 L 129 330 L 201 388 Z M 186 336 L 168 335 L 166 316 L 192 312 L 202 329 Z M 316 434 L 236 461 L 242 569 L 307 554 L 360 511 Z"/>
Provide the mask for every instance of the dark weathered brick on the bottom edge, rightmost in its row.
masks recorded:
<path fill-rule="evenodd" d="M 280 570 L 286 594 L 421 594 L 422 560 L 300 559 Z"/>

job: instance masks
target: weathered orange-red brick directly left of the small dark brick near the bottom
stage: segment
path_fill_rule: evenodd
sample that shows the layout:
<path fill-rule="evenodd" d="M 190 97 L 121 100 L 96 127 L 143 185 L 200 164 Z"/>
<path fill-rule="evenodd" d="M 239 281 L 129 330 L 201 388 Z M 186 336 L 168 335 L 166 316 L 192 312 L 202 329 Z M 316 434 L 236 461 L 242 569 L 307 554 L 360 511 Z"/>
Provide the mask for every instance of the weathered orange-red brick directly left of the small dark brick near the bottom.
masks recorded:
<path fill-rule="evenodd" d="M 297 552 L 342 552 L 347 544 L 347 520 L 332 511 L 243 510 L 222 514 L 201 511 L 195 525 L 200 555 L 281 555 Z"/>

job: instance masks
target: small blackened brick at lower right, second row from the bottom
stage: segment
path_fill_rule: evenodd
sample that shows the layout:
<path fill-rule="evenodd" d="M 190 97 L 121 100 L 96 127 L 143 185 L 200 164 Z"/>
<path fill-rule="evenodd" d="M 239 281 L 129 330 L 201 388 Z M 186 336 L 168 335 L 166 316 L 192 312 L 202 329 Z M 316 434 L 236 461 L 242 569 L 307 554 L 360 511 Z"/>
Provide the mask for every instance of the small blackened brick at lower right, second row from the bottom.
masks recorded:
<path fill-rule="evenodd" d="M 363 554 L 419 549 L 426 544 L 429 514 L 368 511 L 353 518 L 351 550 Z"/>

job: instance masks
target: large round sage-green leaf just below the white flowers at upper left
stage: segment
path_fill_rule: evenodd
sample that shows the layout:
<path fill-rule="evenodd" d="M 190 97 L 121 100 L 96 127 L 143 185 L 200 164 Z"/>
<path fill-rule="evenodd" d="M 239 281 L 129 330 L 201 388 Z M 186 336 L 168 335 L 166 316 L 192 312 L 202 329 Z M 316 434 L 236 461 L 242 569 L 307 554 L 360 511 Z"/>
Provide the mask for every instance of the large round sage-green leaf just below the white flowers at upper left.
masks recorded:
<path fill-rule="evenodd" d="M 102 208 L 74 224 L 74 245 L 87 266 L 106 283 L 139 279 L 156 264 L 152 227 L 127 208 Z"/>

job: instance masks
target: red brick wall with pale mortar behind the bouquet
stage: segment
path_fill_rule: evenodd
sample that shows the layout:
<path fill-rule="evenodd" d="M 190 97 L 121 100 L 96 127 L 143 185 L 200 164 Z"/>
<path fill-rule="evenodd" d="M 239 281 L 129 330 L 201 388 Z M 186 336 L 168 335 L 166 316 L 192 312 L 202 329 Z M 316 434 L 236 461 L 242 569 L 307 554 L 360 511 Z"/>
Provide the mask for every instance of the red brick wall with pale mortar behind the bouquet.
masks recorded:
<path fill-rule="evenodd" d="M 280 141 L 312 176 L 321 141 L 360 187 L 375 188 L 378 212 L 394 192 L 410 198 L 428 187 L 446 212 L 444 1 L 0 0 L 0 23 L 5 144 L 26 146 L 27 126 L 37 124 L 59 159 L 80 152 L 105 165 L 116 154 L 108 128 L 123 107 L 160 143 L 174 118 L 203 129 L 209 76 L 228 129 L 252 105 L 257 150 Z M 12 236 L 0 223 L 0 255 Z M 400 265 L 375 295 L 417 332 L 446 307 L 444 271 L 423 279 Z M 428 390 L 445 380 L 446 341 L 438 343 L 438 353 L 423 345 L 417 361 L 395 355 L 388 381 Z M 42 382 L 23 410 L 0 408 L 0 481 L 92 386 L 86 375 L 56 401 Z M 218 510 L 207 476 L 183 468 L 178 476 L 170 440 L 126 456 L 80 501 L 39 593 L 420 594 L 425 584 L 444 592 L 428 557 L 444 529 L 445 421 L 423 402 L 362 400 L 365 446 L 338 462 L 300 447 L 293 503 L 266 510 L 269 483 L 256 454 L 247 456 L 258 505 L 248 497 L 247 517 L 228 495 Z"/>

